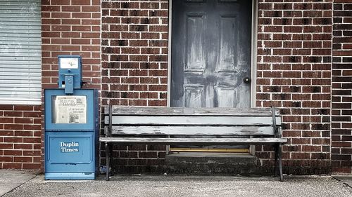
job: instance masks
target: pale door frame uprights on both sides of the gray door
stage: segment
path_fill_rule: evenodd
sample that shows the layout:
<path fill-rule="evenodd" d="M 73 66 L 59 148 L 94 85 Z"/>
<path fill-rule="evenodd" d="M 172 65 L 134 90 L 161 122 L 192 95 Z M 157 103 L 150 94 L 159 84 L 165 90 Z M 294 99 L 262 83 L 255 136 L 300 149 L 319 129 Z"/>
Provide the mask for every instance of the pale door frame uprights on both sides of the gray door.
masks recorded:
<path fill-rule="evenodd" d="M 177 0 L 174 0 L 177 1 Z M 168 29 L 168 100 L 167 107 L 171 104 L 171 44 L 172 44 L 172 0 L 169 0 L 169 29 Z M 251 24 L 251 107 L 256 107 L 256 65 L 257 65 L 257 37 L 258 37 L 258 0 L 252 0 Z"/>

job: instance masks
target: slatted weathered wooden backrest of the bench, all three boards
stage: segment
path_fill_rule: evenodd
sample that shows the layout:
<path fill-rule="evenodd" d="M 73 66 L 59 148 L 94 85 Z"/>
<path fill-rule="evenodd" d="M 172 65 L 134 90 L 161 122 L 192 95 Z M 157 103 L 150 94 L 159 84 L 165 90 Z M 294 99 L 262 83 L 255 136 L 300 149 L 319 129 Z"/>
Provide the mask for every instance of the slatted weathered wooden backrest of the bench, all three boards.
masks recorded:
<path fill-rule="evenodd" d="M 104 111 L 106 125 L 104 130 L 107 136 L 248 135 L 280 137 L 281 135 L 279 129 L 281 117 L 279 111 L 272 108 L 192 109 L 112 106 L 106 107 Z"/>

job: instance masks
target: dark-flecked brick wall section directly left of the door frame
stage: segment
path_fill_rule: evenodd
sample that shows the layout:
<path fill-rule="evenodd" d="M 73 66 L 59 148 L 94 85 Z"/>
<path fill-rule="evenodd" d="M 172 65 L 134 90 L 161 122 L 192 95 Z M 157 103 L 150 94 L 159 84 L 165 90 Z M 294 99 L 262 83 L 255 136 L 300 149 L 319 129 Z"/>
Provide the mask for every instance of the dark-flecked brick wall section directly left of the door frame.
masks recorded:
<path fill-rule="evenodd" d="M 102 1 L 101 8 L 101 104 L 166 106 L 168 0 Z M 165 146 L 117 146 L 113 156 L 118 171 L 156 172 Z"/>

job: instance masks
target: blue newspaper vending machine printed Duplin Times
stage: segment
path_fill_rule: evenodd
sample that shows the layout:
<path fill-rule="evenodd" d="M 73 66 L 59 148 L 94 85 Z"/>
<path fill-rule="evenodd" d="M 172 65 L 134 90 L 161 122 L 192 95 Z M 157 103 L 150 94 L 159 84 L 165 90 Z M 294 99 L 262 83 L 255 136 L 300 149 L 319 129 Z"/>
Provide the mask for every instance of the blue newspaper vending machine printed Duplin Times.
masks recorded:
<path fill-rule="evenodd" d="M 44 90 L 45 179 L 95 179 L 97 90 L 82 89 L 82 58 L 58 56 L 58 88 Z"/>

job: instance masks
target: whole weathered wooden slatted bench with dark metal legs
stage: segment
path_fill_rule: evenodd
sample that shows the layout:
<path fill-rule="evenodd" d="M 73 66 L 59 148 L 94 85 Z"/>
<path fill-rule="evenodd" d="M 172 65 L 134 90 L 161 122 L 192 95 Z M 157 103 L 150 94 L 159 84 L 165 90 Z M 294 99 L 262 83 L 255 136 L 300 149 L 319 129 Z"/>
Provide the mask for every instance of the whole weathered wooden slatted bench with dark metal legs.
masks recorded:
<path fill-rule="evenodd" d="M 106 180 L 109 179 L 113 143 L 202 146 L 270 144 L 275 148 L 275 175 L 279 172 L 279 179 L 283 180 L 282 144 L 287 139 L 281 136 L 281 117 L 273 107 L 191 109 L 110 105 L 104 114 L 106 137 L 100 137 L 100 142 L 104 142 L 106 147 Z"/>

